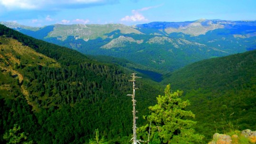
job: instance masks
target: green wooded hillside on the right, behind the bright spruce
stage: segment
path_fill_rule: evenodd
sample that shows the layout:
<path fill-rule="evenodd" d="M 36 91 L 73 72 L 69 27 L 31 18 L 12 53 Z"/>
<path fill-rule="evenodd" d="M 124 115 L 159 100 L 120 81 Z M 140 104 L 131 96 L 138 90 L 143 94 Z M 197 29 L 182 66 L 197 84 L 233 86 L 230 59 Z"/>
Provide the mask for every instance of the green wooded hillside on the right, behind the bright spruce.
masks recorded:
<path fill-rule="evenodd" d="M 256 51 L 202 60 L 163 79 L 186 93 L 208 139 L 216 131 L 256 129 Z"/>

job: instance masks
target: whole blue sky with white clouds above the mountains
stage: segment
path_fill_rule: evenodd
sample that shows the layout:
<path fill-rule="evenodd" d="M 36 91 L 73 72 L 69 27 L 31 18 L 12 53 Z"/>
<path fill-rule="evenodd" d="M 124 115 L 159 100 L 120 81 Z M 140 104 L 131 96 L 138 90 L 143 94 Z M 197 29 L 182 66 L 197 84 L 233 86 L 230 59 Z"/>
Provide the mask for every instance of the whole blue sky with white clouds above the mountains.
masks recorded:
<path fill-rule="evenodd" d="M 0 0 L 0 21 L 22 25 L 256 20 L 256 0 Z"/>

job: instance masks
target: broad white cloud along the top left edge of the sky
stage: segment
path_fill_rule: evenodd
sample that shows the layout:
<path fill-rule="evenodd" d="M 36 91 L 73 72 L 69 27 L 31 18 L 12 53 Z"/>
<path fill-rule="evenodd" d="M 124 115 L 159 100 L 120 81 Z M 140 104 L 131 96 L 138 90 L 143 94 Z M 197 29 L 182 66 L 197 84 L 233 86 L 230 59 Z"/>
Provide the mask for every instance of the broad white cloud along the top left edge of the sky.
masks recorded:
<path fill-rule="evenodd" d="M 17 10 L 17 8 L 56 10 L 60 8 L 85 8 L 117 2 L 118 0 L 0 0 L 0 6 L 8 10 Z"/>

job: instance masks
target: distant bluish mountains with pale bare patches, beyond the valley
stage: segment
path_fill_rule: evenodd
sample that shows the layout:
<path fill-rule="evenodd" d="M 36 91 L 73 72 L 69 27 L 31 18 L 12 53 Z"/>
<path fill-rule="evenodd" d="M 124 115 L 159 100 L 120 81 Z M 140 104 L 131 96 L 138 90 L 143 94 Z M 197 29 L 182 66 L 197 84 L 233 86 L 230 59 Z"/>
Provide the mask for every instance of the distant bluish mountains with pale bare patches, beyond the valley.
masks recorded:
<path fill-rule="evenodd" d="M 162 74 L 202 59 L 250 51 L 256 45 L 256 21 L 200 19 L 135 26 L 2 24 L 85 54 L 131 60 Z"/>

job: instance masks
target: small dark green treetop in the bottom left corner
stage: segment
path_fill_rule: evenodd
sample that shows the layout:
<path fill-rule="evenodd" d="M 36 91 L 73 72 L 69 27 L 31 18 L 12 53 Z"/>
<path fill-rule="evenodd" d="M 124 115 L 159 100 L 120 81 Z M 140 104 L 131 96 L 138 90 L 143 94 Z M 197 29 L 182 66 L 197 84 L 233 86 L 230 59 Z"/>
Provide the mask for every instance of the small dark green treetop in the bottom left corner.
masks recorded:
<path fill-rule="evenodd" d="M 9 133 L 5 133 L 3 138 L 7 141 L 7 144 L 33 144 L 33 141 L 28 141 L 28 134 L 25 132 L 20 133 L 20 127 L 17 124 L 13 129 L 9 130 Z"/>

